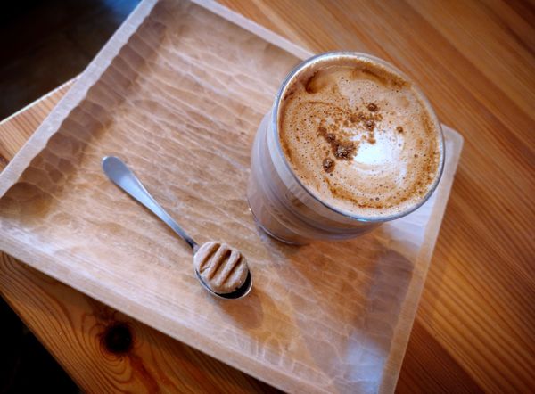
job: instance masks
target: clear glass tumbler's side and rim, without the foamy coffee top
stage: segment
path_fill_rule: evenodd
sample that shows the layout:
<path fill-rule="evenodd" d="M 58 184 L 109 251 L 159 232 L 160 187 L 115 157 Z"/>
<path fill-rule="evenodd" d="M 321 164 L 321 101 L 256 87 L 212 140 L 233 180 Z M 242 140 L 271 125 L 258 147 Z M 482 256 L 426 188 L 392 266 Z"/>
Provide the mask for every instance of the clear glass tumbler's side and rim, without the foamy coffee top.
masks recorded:
<path fill-rule="evenodd" d="M 293 173 L 292 168 L 284 156 L 278 130 L 279 104 L 287 86 L 299 76 L 300 71 L 313 66 L 315 62 L 325 61 L 329 57 L 357 57 L 381 64 L 388 70 L 394 71 L 402 78 L 407 78 L 400 70 L 390 63 L 366 53 L 322 53 L 300 63 L 284 79 L 279 88 L 275 103 L 262 119 L 257 131 L 251 151 L 251 176 L 247 188 L 247 200 L 253 218 L 267 234 L 279 241 L 304 244 L 313 240 L 344 240 L 359 234 L 365 234 L 382 223 L 401 218 L 420 207 L 436 189 L 444 164 L 444 144 L 440 123 L 436 119 L 431 104 L 424 94 L 421 94 L 427 104 L 430 116 L 437 125 L 440 133 L 440 167 L 429 193 L 408 209 L 391 216 L 376 218 L 359 218 L 343 213 L 336 207 L 321 201 L 301 184 L 300 179 Z"/>

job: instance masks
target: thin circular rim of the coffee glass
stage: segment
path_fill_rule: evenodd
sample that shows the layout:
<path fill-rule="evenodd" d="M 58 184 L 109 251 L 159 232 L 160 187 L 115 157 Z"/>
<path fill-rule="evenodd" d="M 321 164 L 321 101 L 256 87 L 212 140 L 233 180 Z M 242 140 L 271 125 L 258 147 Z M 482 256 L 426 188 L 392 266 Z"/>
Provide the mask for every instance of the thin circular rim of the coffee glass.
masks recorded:
<path fill-rule="evenodd" d="M 439 169 L 437 171 L 437 176 L 435 176 L 433 183 L 431 187 L 429 188 L 428 192 L 425 193 L 424 198 L 422 198 L 420 201 L 418 201 L 415 205 L 411 205 L 408 209 L 402 210 L 398 213 L 387 215 L 387 216 L 362 216 L 362 215 L 353 215 L 350 212 L 344 211 L 342 209 L 338 209 L 334 207 L 331 204 L 326 203 L 325 201 L 322 201 L 315 193 L 313 193 L 309 187 L 304 185 L 300 178 L 295 175 L 293 172 L 292 166 L 290 166 L 290 163 L 288 160 L 286 160 L 286 156 L 284 155 L 283 148 L 281 146 L 280 138 L 279 138 L 279 128 L 278 128 L 278 119 L 279 119 L 279 103 L 281 103 L 281 98 L 284 95 L 284 92 L 286 90 L 286 87 L 289 86 L 292 79 L 300 73 L 301 70 L 306 69 L 310 65 L 314 64 L 315 62 L 320 62 L 324 60 L 325 58 L 331 58 L 331 57 L 345 57 L 345 58 L 357 58 L 357 59 L 365 59 L 372 62 L 378 62 L 383 67 L 385 67 L 387 70 L 392 71 L 395 74 L 398 74 L 401 78 L 406 79 L 408 82 L 410 82 L 416 91 L 416 94 L 419 94 L 420 98 L 424 102 L 425 106 L 427 107 L 427 110 L 429 111 L 430 115 L 432 116 L 432 121 L 437 125 L 438 133 L 439 133 L 439 148 L 440 148 L 440 163 L 439 163 Z M 444 161 L 445 161 L 445 144 L 444 144 L 444 134 L 442 133 L 442 127 L 440 125 L 440 121 L 437 118 L 437 115 L 435 114 L 435 111 L 432 109 L 431 103 L 429 103 L 429 100 L 425 96 L 424 92 L 416 86 L 416 84 L 413 82 L 411 78 L 408 78 L 407 75 L 399 70 L 397 67 L 392 65 L 390 62 L 386 62 L 385 60 L 376 57 L 374 55 L 368 54 L 368 53 L 361 53 L 361 52 L 349 52 L 349 51 L 333 51 L 333 52 L 325 52 L 325 53 L 319 53 L 317 55 L 314 55 L 312 57 L 309 57 L 309 59 L 304 60 L 303 62 L 300 62 L 295 68 L 290 71 L 290 73 L 284 78 L 283 83 L 279 87 L 276 97 L 275 97 L 275 104 L 273 106 L 273 111 L 271 111 L 271 119 L 270 122 L 272 124 L 271 129 L 276 134 L 276 148 L 277 151 L 281 154 L 283 157 L 284 165 L 290 173 L 293 176 L 293 179 L 309 194 L 310 197 L 312 197 L 313 200 L 319 202 L 325 208 L 331 209 L 334 212 L 350 219 L 358 220 L 361 222 L 387 222 L 390 220 L 394 220 L 397 218 L 402 218 L 404 216 L 407 216 L 409 213 L 414 212 L 416 209 L 420 208 L 422 205 L 424 205 L 425 201 L 429 200 L 429 198 L 432 196 L 432 193 L 436 190 L 437 186 L 439 185 L 440 178 L 442 177 L 442 172 L 444 170 Z"/>

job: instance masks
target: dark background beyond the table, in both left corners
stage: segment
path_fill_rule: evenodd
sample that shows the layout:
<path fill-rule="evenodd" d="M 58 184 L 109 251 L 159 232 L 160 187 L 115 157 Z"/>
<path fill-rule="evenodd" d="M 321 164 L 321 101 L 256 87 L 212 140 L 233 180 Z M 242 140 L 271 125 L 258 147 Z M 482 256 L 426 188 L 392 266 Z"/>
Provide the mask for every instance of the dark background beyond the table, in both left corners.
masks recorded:
<path fill-rule="evenodd" d="M 0 12 L 0 120 L 77 76 L 138 0 L 8 0 Z M 0 298 L 0 393 L 78 387 Z"/>

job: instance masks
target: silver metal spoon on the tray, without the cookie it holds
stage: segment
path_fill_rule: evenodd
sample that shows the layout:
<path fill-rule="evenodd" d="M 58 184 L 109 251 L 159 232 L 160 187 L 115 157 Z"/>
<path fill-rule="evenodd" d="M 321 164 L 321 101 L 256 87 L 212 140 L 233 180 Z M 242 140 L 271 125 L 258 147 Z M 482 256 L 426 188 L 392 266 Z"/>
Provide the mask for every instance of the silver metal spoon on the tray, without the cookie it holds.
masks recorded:
<path fill-rule="evenodd" d="M 144 188 L 144 185 L 139 181 L 139 179 L 137 179 L 136 175 L 134 175 L 127 165 L 119 158 L 114 156 L 107 156 L 103 158 L 103 171 L 104 174 L 110 178 L 111 182 L 119 186 L 123 192 L 127 193 L 134 200 L 142 204 L 146 209 L 149 209 L 154 215 L 168 225 L 180 238 L 182 238 L 193 249 L 193 257 L 197 253 L 197 250 L 202 248 L 199 247 L 197 242 L 193 241 L 192 237 L 185 233 L 182 227 L 177 225 L 177 222 L 175 222 L 175 220 L 173 220 L 173 218 L 171 218 L 163 208 L 161 208 L 161 205 L 154 200 L 151 193 L 147 192 L 147 190 Z M 239 250 L 236 251 L 239 252 Z M 249 294 L 249 291 L 251 291 L 252 287 L 251 271 L 249 270 L 247 272 L 245 282 L 243 282 L 243 284 L 235 291 L 228 293 L 218 293 L 213 291 L 209 284 L 204 282 L 204 279 L 202 278 L 202 275 L 197 269 L 196 265 L 195 275 L 197 275 L 199 282 L 202 283 L 202 287 L 204 287 L 207 291 L 210 291 L 212 295 L 226 300 L 235 300 L 245 297 L 247 294 Z"/>

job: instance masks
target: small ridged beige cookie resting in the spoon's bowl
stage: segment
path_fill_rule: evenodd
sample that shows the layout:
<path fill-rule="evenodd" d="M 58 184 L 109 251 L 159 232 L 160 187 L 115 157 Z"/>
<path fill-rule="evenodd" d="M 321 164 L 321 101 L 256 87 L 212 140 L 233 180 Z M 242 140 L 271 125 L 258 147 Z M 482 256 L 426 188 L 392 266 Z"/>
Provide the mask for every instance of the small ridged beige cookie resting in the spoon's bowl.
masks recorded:
<path fill-rule="evenodd" d="M 193 256 L 193 265 L 202 281 L 218 294 L 239 289 L 249 273 L 242 252 L 224 242 L 202 244 Z"/>

